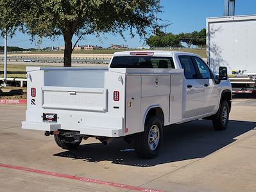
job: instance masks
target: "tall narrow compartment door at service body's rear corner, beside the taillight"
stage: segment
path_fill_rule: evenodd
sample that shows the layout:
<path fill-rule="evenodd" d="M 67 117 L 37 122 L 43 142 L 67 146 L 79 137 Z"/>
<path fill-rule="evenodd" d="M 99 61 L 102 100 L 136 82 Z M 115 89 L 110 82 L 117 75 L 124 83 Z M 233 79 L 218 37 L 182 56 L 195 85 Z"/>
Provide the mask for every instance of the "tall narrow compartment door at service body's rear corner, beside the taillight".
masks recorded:
<path fill-rule="evenodd" d="M 141 129 L 141 76 L 126 76 L 124 135 Z"/>

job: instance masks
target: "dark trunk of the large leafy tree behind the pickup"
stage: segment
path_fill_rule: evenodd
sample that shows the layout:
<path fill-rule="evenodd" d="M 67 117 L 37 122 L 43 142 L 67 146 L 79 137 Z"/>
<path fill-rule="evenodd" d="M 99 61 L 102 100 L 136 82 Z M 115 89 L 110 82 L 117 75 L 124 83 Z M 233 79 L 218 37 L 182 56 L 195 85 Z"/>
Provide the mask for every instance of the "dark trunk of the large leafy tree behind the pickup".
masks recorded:
<path fill-rule="evenodd" d="M 71 67 L 72 63 L 72 37 L 73 34 L 64 34 L 65 50 L 64 50 L 64 67 Z"/>

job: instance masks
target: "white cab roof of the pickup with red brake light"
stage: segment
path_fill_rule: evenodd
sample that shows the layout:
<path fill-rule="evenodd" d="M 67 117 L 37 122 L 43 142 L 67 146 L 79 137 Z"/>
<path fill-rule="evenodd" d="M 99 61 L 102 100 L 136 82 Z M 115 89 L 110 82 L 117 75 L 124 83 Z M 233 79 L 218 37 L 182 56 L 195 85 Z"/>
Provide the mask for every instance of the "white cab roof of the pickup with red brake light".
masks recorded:
<path fill-rule="evenodd" d="M 182 52 L 182 51 L 156 51 L 156 50 L 144 50 L 144 51 L 120 51 L 115 52 L 114 56 L 157 56 L 157 57 L 166 57 L 166 56 L 175 56 L 176 54 L 185 54 L 199 56 L 191 52 Z M 200 56 L 199 56 L 200 57 Z"/>

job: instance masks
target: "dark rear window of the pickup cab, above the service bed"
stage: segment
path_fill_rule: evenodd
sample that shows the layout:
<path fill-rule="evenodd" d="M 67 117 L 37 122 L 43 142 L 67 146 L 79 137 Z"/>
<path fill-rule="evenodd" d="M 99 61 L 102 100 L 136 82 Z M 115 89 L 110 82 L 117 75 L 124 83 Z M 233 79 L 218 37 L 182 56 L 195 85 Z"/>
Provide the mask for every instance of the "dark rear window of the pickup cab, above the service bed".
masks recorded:
<path fill-rule="evenodd" d="M 171 57 L 117 56 L 110 68 L 175 68 L 175 65 Z"/>

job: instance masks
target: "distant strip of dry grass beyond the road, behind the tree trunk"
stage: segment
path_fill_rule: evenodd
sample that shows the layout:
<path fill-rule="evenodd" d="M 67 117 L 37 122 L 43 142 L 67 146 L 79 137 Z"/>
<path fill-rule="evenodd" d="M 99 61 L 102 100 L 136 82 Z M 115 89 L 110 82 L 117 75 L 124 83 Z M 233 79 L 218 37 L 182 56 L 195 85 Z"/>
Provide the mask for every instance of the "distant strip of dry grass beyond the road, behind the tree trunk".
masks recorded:
<path fill-rule="evenodd" d="M 185 51 L 199 54 L 202 58 L 207 58 L 206 49 L 157 49 L 159 51 Z M 136 51 L 135 49 L 99 49 L 73 51 L 74 54 L 113 54 L 119 51 Z M 141 51 L 141 50 L 140 50 Z M 146 50 L 145 50 L 146 51 Z M 33 51 L 33 52 L 10 52 L 9 54 L 64 54 L 64 51 Z"/>

